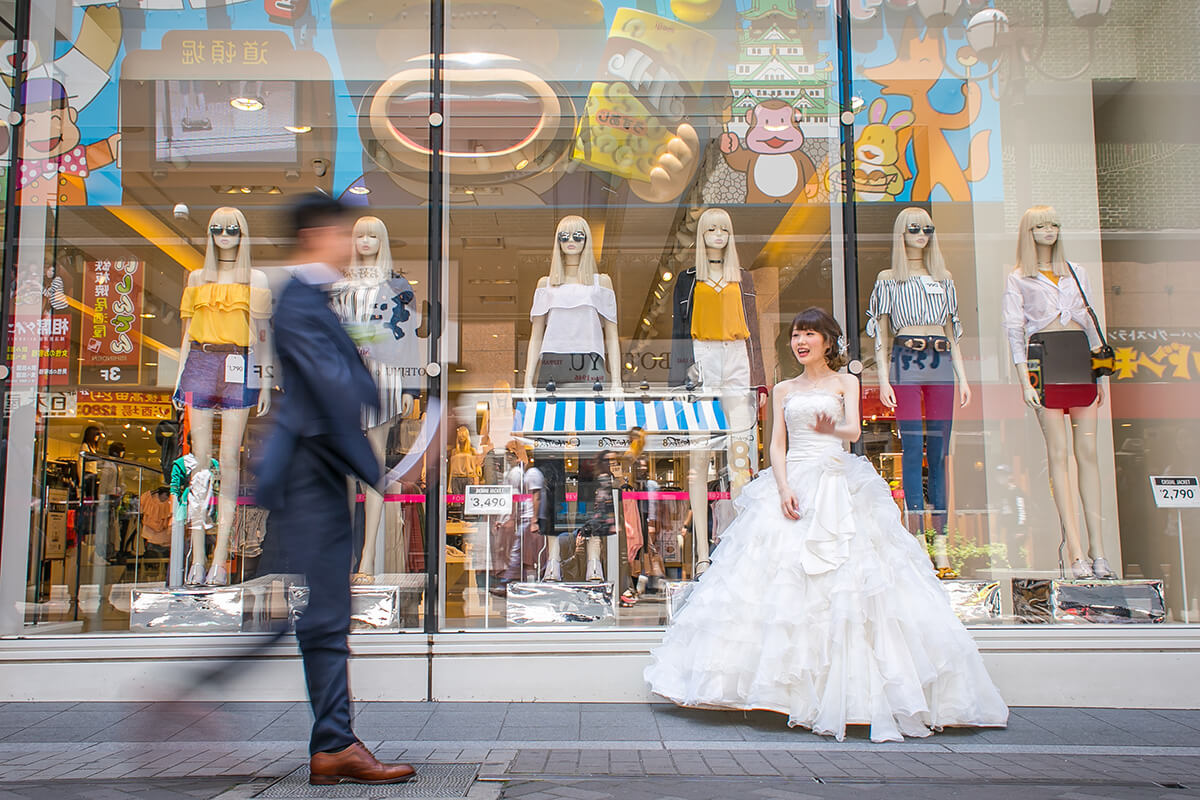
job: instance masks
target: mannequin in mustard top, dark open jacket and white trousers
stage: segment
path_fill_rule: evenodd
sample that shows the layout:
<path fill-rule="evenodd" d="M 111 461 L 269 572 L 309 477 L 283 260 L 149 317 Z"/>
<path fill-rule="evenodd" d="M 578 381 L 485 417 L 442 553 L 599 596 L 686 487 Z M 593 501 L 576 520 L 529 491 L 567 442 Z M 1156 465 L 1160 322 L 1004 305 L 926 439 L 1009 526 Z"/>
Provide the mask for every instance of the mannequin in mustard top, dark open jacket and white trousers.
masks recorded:
<path fill-rule="evenodd" d="M 754 392 L 761 405 L 767 397 L 767 380 L 754 279 L 738 261 L 733 223 L 724 209 L 707 209 L 700 215 L 696 264 L 676 278 L 673 309 L 671 385 L 684 386 L 694 380 L 706 393 L 720 396 L 730 423 L 726 461 L 730 489 L 737 497 L 750 480 L 755 456 L 744 435 L 755 423 L 755 401 L 750 395 Z M 697 576 L 708 569 L 712 458 L 710 451 L 696 451 L 688 475 Z"/>

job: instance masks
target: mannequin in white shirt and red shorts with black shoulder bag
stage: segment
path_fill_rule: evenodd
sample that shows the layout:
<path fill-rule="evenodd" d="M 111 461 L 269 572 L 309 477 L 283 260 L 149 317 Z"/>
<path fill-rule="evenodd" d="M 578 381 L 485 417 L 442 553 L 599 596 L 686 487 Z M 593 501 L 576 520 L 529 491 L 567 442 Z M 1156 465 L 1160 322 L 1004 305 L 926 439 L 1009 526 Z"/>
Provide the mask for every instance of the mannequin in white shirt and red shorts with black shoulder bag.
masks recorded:
<path fill-rule="evenodd" d="M 1075 277 L 1072 277 L 1074 271 Z M 1087 272 L 1070 265 L 1063 254 L 1061 222 L 1058 213 L 1048 205 L 1033 206 L 1021 217 L 1016 241 L 1016 266 L 1008 276 L 1003 297 L 1004 329 L 1008 332 L 1013 362 L 1021 379 L 1025 404 L 1038 416 L 1042 435 L 1046 443 L 1050 468 L 1050 493 L 1062 524 L 1070 572 L 1074 578 L 1114 578 L 1116 575 L 1104 558 L 1104 540 L 1100 525 L 1100 470 L 1096 452 L 1096 427 L 1099 407 L 1104 403 L 1104 385 L 1072 387 L 1075 391 L 1054 391 L 1062 386 L 1045 385 L 1045 398 L 1034 387 L 1027 356 L 1031 339 L 1045 339 L 1045 355 L 1057 349 L 1054 342 L 1063 338 L 1079 339 L 1086 333 L 1084 348 L 1099 345 L 1096 331 L 1080 289 L 1091 297 Z M 1063 337 L 1062 332 L 1075 331 Z M 1086 353 L 1078 357 L 1087 357 Z M 1078 393 L 1082 389 L 1082 393 Z M 1070 455 L 1067 451 L 1067 423 L 1072 427 L 1078 487 L 1070 480 Z M 1080 542 L 1076 505 L 1084 506 L 1087 527 L 1088 552 Z"/>

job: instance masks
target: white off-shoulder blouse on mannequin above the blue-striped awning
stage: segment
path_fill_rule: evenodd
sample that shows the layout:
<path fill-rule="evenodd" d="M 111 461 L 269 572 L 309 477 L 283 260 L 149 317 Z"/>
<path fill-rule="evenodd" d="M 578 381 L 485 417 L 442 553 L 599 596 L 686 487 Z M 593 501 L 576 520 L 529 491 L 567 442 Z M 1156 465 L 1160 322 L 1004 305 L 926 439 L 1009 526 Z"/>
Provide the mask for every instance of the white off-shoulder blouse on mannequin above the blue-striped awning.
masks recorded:
<path fill-rule="evenodd" d="M 533 293 L 529 319 L 546 318 L 541 353 L 605 354 L 601 318 L 617 321 L 617 295 L 600 285 L 600 276 L 592 284 L 560 283 L 539 287 Z M 539 354 L 540 355 L 540 354 Z"/>

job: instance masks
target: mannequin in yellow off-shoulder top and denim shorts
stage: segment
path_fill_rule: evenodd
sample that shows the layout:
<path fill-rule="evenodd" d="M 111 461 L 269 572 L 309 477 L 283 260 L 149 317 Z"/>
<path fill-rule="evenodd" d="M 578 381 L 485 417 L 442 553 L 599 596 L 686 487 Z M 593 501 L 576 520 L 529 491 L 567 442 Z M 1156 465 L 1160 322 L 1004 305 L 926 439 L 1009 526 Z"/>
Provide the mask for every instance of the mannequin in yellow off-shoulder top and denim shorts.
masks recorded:
<path fill-rule="evenodd" d="M 193 529 L 192 564 L 185 583 L 226 585 L 242 434 L 252 407 L 259 416 L 270 410 L 269 380 L 274 374 L 271 290 L 266 276 L 250 266 L 250 231 L 238 209 L 212 212 L 204 267 L 187 276 L 179 315 L 184 337 L 173 399 L 176 408 L 188 409 L 192 452 L 200 464 L 211 461 L 212 422 L 221 417 L 221 493 L 212 566 L 205 575 L 204 533 Z M 259 377 L 268 380 L 262 389 Z"/>

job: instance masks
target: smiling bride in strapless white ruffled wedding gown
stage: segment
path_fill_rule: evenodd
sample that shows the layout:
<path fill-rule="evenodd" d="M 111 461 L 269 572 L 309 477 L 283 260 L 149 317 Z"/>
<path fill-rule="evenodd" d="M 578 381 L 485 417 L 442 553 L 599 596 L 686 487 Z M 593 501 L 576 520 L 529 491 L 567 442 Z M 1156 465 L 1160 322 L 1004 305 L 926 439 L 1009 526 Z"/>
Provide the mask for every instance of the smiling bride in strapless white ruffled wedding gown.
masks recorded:
<path fill-rule="evenodd" d="M 840 336 L 821 308 L 793 320 L 804 374 L 772 391 L 775 467 L 738 497 L 646 680 L 678 705 L 778 711 L 839 741 L 847 724 L 872 741 L 1003 727 L 1008 708 L 929 557 L 845 449 L 862 422 L 857 379 L 835 372 Z"/>

